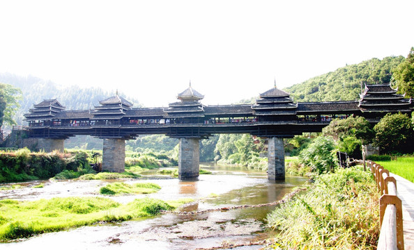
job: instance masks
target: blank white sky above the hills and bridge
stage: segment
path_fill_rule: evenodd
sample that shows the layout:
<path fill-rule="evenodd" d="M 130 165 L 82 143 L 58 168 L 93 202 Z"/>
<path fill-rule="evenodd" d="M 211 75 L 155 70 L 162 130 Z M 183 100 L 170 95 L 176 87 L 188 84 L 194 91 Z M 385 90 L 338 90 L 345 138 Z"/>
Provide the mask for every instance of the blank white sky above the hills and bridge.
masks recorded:
<path fill-rule="evenodd" d="M 167 106 L 235 103 L 346 64 L 406 57 L 414 1 L 0 0 L 0 72 Z"/>

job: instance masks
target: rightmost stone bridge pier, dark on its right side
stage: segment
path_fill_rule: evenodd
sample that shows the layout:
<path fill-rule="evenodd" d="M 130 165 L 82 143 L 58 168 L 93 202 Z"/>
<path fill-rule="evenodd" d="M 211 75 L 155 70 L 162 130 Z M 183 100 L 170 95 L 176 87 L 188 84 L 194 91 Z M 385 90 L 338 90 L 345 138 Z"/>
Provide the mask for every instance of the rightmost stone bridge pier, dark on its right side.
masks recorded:
<path fill-rule="evenodd" d="M 284 180 L 284 147 L 283 138 L 268 139 L 268 179 Z"/>

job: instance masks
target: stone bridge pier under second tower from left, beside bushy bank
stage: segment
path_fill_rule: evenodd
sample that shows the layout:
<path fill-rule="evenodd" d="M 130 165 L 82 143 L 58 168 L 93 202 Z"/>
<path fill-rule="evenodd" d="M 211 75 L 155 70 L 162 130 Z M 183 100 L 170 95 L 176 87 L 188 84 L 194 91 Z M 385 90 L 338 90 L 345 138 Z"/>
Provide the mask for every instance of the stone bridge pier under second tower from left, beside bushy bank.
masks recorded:
<path fill-rule="evenodd" d="M 116 173 L 125 171 L 125 140 L 103 140 L 102 170 Z"/>

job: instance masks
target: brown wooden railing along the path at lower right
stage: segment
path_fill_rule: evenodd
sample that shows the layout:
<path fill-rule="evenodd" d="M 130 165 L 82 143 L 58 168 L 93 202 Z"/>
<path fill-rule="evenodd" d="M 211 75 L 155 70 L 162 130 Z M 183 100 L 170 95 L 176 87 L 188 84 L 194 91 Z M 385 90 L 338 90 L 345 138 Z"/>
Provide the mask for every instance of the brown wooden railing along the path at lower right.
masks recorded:
<path fill-rule="evenodd" d="M 372 161 L 367 161 L 371 169 L 380 198 L 380 226 L 381 232 L 377 249 L 404 250 L 404 231 L 402 221 L 401 199 L 397 197 L 397 182 L 390 176 L 388 169 L 384 169 Z"/>

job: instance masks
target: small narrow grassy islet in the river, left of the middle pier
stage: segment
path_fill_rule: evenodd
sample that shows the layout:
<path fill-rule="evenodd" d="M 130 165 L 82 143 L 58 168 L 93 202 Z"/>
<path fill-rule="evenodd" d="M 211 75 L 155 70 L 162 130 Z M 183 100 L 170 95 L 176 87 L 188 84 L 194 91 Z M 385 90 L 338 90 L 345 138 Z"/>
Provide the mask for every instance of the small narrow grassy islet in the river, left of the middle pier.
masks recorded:
<path fill-rule="evenodd" d="M 158 192 L 161 187 L 154 183 L 110 183 L 100 188 L 100 194 L 120 195 L 120 194 L 152 194 Z"/>

